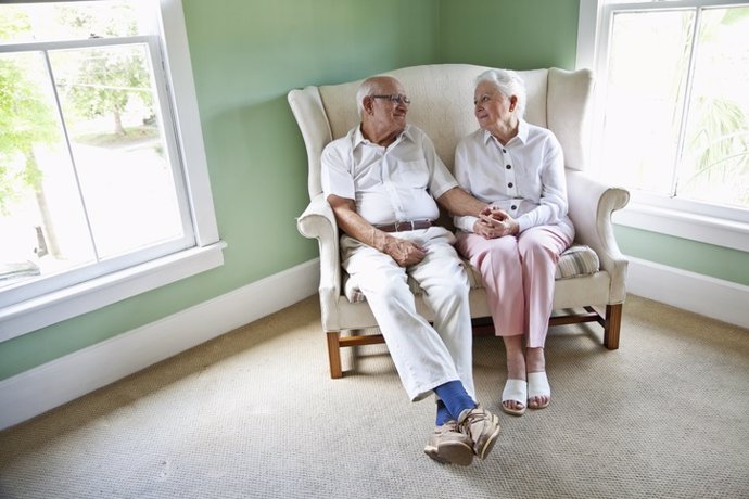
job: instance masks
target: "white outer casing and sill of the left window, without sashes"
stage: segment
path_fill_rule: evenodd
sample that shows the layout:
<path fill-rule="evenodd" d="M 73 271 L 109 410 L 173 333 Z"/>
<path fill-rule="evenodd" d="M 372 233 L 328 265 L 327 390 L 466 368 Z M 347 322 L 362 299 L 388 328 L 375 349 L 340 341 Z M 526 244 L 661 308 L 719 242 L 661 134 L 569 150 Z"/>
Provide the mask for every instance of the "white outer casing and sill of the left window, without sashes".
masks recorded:
<path fill-rule="evenodd" d="M 224 264 L 181 0 L 158 1 L 164 72 L 175 114 L 195 245 L 28 300 L 0 305 L 0 342 L 194 276 Z"/>

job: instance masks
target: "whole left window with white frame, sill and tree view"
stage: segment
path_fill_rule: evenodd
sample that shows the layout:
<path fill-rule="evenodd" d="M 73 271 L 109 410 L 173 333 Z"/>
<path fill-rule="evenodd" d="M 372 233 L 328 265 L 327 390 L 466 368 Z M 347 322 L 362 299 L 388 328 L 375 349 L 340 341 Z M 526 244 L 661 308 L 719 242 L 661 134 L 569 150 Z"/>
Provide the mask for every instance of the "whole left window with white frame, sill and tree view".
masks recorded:
<path fill-rule="evenodd" d="M 180 2 L 0 5 L 0 341 L 223 263 Z"/>

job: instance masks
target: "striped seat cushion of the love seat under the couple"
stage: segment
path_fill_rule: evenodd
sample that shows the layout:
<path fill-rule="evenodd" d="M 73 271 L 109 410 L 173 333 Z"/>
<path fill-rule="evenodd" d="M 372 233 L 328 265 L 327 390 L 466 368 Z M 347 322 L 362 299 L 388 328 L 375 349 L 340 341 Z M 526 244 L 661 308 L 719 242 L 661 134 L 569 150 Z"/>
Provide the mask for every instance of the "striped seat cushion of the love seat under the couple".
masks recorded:
<path fill-rule="evenodd" d="M 468 260 L 464 260 L 468 269 L 468 282 L 471 289 L 482 287 L 481 274 L 471 266 Z M 600 269 L 598 255 L 588 246 L 575 244 L 570 246 L 561 254 L 557 264 L 555 279 L 572 279 L 580 276 L 596 273 Z M 408 278 L 408 286 L 414 294 L 421 294 L 421 287 L 411 278 Z M 365 302 L 364 293 L 359 290 L 355 279 L 344 272 L 343 292 L 351 303 Z"/>

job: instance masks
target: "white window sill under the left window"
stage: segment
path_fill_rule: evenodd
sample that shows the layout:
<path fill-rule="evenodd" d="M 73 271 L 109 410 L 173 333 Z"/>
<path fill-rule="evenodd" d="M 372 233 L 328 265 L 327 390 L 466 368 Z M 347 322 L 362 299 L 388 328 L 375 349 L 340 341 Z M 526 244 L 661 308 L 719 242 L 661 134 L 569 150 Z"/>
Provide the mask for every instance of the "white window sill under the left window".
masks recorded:
<path fill-rule="evenodd" d="M 0 342 L 224 265 L 219 241 L 0 308 Z"/>

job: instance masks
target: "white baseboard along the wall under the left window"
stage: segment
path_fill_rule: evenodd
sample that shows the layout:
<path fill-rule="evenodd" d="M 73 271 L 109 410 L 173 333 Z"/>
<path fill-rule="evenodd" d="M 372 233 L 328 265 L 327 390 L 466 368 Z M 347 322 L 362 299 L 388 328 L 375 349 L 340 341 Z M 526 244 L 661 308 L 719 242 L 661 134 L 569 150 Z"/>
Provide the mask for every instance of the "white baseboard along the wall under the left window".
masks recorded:
<path fill-rule="evenodd" d="M 307 261 L 0 381 L 0 430 L 317 293 L 319 268 Z"/>

